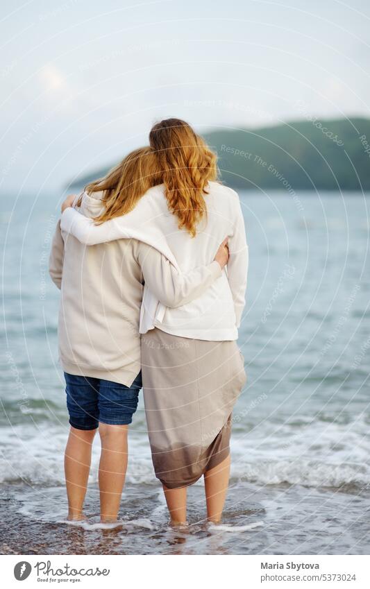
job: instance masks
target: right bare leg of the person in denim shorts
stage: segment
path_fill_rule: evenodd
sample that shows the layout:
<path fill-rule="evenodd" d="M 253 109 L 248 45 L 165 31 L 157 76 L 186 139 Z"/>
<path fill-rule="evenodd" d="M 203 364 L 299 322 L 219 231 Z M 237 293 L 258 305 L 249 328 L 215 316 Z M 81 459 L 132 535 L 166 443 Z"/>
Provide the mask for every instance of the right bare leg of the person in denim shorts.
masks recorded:
<path fill-rule="evenodd" d="M 127 470 L 127 425 L 99 423 L 100 515 L 102 522 L 116 522 Z"/>

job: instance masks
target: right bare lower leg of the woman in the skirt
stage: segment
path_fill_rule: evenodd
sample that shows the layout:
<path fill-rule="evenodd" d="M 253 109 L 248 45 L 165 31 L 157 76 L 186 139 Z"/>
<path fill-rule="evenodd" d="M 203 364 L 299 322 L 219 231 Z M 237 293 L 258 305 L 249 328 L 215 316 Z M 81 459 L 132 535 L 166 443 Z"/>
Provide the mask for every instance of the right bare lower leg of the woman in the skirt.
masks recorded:
<path fill-rule="evenodd" d="M 215 524 L 221 521 L 222 510 L 228 492 L 230 477 L 230 454 L 228 457 L 204 473 L 205 499 L 207 501 L 208 521 Z"/>

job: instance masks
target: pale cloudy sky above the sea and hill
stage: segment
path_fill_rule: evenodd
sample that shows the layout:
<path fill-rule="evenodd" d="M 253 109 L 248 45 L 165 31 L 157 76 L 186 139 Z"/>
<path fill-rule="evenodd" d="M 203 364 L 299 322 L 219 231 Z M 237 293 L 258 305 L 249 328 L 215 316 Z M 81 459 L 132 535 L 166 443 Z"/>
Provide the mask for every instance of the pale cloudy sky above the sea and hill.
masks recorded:
<path fill-rule="evenodd" d="M 210 128 L 369 117 L 367 0 L 1 1 L 0 193 Z"/>

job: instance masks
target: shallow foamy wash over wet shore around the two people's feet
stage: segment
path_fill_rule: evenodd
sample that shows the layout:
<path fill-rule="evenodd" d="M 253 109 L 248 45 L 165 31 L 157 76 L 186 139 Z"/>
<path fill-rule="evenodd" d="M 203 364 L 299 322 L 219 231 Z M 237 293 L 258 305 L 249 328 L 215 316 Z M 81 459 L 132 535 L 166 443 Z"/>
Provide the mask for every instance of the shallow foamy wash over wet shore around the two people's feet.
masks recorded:
<path fill-rule="evenodd" d="M 230 488 L 221 527 L 204 520 L 203 488 L 189 493 L 189 527 L 173 530 L 157 486 L 128 486 L 119 527 L 99 527 L 99 497 L 91 488 L 89 522 L 65 517 L 65 490 L 3 486 L 1 554 L 369 554 L 369 492 L 301 486 Z M 346 512 L 346 527 L 342 511 Z M 262 525 L 261 525 L 262 524 Z M 257 526 L 257 527 L 253 527 Z"/>

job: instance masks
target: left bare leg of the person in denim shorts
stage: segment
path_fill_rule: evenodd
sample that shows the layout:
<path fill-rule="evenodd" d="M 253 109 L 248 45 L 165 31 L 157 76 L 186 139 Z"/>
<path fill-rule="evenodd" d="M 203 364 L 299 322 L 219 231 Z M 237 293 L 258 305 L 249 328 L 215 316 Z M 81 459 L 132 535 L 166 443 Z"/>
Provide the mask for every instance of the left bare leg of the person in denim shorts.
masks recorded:
<path fill-rule="evenodd" d="M 96 429 L 71 427 L 65 448 L 65 483 L 68 497 L 68 519 L 83 520 L 83 502 L 89 478 L 92 441 Z"/>

